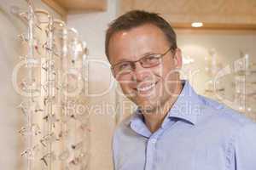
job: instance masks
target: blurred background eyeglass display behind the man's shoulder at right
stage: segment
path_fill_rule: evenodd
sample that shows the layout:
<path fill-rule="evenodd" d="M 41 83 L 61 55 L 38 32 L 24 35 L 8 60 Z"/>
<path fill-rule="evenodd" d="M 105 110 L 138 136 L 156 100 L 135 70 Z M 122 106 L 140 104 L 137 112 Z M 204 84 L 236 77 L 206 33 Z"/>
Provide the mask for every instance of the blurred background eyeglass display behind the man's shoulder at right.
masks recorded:
<path fill-rule="evenodd" d="M 183 56 L 183 69 L 192 68 L 196 60 Z M 207 82 L 203 95 L 245 114 L 256 121 L 256 61 L 246 52 L 238 54 L 230 63 L 221 62 L 216 48 L 208 49 L 203 62 Z M 193 73 L 192 73 L 193 74 Z"/>

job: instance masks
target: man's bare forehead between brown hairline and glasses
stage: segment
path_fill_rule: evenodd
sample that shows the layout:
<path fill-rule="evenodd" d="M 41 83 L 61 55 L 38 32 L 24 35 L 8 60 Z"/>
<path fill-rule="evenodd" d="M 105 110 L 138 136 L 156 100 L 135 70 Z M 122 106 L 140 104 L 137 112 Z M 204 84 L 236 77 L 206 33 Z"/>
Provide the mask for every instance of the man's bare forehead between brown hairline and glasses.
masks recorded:
<path fill-rule="evenodd" d="M 169 42 L 159 27 L 152 24 L 137 26 L 113 34 L 108 45 L 109 59 L 137 59 L 147 53 L 162 53 L 167 46 Z"/>

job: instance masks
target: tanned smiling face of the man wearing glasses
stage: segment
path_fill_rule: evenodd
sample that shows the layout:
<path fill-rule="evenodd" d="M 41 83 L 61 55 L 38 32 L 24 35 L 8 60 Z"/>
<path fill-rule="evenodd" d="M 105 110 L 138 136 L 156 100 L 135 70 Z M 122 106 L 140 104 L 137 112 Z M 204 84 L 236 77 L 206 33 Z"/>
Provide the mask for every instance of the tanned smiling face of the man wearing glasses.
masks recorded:
<path fill-rule="evenodd" d="M 119 31 L 110 38 L 108 51 L 111 65 L 122 61 L 137 61 L 150 54 L 164 54 L 170 48 L 165 34 L 154 25 L 143 25 L 129 31 Z M 114 74 L 123 93 L 135 104 L 148 111 L 155 111 L 171 99 L 177 89 L 181 66 L 180 50 L 169 51 L 160 64 L 143 68 L 136 62 L 129 74 Z"/>

